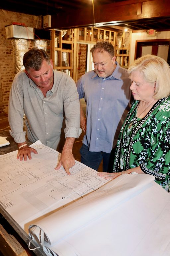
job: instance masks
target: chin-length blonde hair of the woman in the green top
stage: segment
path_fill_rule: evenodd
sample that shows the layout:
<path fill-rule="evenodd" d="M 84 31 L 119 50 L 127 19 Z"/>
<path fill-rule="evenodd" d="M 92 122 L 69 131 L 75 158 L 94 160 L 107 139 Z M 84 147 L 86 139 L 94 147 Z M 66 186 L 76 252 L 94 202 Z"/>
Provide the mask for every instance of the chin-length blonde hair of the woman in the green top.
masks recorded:
<path fill-rule="evenodd" d="M 147 54 L 134 61 L 128 73 L 139 70 L 143 78 L 150 83 L 156 82 L 154 99 L 161 99 L 170 94 L 170 66 L 161 57 Z"/>

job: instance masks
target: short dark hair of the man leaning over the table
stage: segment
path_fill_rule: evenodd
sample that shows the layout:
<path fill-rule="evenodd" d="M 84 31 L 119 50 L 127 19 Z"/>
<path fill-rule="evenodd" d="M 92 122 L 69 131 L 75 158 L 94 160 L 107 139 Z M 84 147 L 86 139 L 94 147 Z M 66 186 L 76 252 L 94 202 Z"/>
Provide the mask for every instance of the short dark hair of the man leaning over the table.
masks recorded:
<path fill-rule="evenodd" d="M 35 71 L 39 71 L 41 69 L 43 60 L 50 63 L 50 56 L 43 49 L 33 47 L 24 54 L 23 65 L 27 71 L 29 71 L 30 68 L 34 69 Z"/>

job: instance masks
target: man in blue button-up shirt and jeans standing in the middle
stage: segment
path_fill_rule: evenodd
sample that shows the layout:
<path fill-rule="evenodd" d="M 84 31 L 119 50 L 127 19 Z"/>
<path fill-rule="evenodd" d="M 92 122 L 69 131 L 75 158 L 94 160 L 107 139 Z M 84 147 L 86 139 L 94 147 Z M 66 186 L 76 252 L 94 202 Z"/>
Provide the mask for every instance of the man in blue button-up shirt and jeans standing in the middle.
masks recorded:
<path fill-rule="evenodd" d="M 81 162 L 108 172 L 110 152 L 130 107 L 130 79 L 127 69 L 116 62 L 114 47 L 107 41 L 91 49 L 94 70 L 77 81 L 79 99 L 86 102 L 86 120 L 81 108 L 81 127 L 85 132 L 80 149 Z"/>

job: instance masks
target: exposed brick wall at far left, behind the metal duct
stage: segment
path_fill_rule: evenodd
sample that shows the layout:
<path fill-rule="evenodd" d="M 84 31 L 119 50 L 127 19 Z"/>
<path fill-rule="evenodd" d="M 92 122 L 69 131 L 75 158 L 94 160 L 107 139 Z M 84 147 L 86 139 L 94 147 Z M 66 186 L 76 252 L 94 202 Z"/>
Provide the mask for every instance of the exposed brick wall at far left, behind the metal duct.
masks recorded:
<path fill-rule="evenodd" d="M 0 9 L 0 113 L 8 113 L 9 91 L 15 76 L 13 48 L 11 39 L 6 39 L 5 31 L 5 26 L 10 26 L 13 22 L 42 28 L 42 17 Z"/>

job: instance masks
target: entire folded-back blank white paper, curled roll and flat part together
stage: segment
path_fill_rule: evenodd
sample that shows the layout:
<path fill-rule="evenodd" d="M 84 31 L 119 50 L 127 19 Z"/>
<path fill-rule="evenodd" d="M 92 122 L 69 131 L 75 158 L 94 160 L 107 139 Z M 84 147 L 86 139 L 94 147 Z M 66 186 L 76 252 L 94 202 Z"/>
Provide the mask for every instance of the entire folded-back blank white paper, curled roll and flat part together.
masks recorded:
<path fill-rule="evenodd" d="M 169 256 L 169 216 L 170 194 L 150 175 L 129 174 L 36 224 L 60 256 Z"/>

